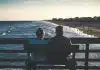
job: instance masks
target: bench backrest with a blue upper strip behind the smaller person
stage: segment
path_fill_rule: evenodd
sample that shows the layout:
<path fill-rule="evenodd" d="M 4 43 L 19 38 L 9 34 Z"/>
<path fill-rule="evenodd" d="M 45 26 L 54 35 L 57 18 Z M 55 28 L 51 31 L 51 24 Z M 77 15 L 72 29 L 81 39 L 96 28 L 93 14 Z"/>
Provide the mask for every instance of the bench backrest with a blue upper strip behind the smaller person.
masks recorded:
<path fill-rule="evenodd" d="M 47 48 L 49 39 L 47 40 L 36 40 L 36 39 L 30 39 L 28 40 L 28 44 L 24 45 L 24 50 L 27 52 L 41 52 L 45 48 Z M 72 52 L 75 52 L 79 49 L 78 45 L 72 45 Z"/>

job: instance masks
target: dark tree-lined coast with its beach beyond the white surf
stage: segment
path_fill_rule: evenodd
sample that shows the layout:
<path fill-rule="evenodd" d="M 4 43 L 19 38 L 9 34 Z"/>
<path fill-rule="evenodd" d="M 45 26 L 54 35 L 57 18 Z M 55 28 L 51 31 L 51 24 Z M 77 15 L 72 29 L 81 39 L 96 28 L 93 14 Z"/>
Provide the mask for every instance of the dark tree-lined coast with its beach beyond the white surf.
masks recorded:
<path fill-rule="evenodd" d="M 70 26 L 78 28 L 89 35 L 95 35 L 100 37 L 100 16 L 94 17 L 75 17 L 75 18 L 52 18 L 52 20 L 46 20 L 59 25 Z"/>

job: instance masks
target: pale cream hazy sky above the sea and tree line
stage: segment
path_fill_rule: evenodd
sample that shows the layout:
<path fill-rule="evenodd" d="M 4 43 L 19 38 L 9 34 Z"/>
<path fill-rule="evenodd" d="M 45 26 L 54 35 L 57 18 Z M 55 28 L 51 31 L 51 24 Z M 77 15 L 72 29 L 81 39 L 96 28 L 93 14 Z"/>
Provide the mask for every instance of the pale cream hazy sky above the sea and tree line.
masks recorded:
<path fill-rule="evenodd" d="M 0 20 L 100 16 L 100 0 L 0 0 Z"/>

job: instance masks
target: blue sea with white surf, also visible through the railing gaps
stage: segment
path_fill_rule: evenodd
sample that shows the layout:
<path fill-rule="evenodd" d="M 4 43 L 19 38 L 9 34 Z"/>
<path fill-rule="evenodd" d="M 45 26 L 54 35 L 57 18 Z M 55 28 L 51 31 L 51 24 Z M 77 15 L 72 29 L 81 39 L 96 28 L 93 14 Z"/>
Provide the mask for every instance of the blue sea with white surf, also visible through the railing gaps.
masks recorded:
<path fill-rule="evenodd" d="M 57 24 L 46 22 L 46 21 L 0 21 L 0 38 L 36 38 L 35 32 L 38 28 L 44 30 L 44 37 L 51 38 L 55 36 L 55 27 Z M 72 28 L 69 26 L 63 26 L 64 36 L 68 38 L 72 37 L 95 37 L 93 35 L 88 35 L 79 31 L 79 29 Z M 92 44 L 90 49 L 100 49 L 99 45 Z M 23 50 L 23 44 L 2 44 L 0 45 L 0 50 Z M 80 49 L 85 49 L 84 44 L 80 45 Z M 27 58 L 26 53 L 0 53 L 0 58 Z M 76 54 L 76 57 L 83 58 L 85 55 L 83 53 Z M 100 54 L 90 54 L 90 58 L 99 58 Z M 0 62 L 1 64 L 24 64 L 18 62 Z M 100 63 L 89 63 L 90 65 L 100 65 Z M 79 62 L 78 65 L 84 65 L 84 62 Z M 8 69 L 5 69 L 8 70 Z M 11 69 L 14 70 L 14 69 Z M 16 70 L 16 69 L 15 69 Z"/>

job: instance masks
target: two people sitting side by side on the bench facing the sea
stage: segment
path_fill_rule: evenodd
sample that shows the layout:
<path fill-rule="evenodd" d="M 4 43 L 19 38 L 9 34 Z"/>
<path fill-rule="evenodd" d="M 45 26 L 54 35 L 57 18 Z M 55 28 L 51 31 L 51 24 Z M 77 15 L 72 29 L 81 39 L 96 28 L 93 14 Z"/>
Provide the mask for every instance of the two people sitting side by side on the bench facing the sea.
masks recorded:
<path fill-rule="evenodd" d="M 43 30 L 39 28 L 36 31 L 37 40 L 43 40 Z M 71 53 L 70 39 L 63 36 L 63 27 L 56 27 L 56 36 L 51 38 L 47 44 L 47 48 L 43 50 L 45 56 L 41 53 L 31 53 L 34 61 L 43 60 L 50 64 L 63 64 L 66 62 L 66 57 Z"/>

